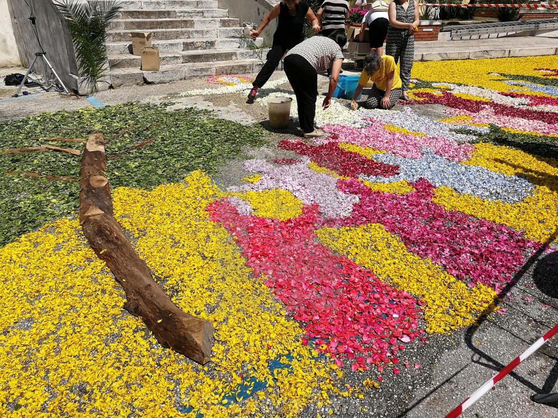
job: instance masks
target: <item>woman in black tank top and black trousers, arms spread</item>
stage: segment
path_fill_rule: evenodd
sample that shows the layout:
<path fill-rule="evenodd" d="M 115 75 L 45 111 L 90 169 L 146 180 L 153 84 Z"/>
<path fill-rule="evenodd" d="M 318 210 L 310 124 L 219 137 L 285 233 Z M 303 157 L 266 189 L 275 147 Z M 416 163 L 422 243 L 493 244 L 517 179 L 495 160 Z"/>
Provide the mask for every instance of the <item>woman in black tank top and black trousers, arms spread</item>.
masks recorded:
<path fill-rule="evenodd" d="M 304 41 L 304 18 L 306 17 L 312 23 L 314 32 L 320 31 L 318 19 L 308 4 L 300 0 L 281 0 L 281 3 L 267 13 L 261 25 L 250 36 L 257 38 L 262 33 L 263 28 L 276 17 L 278 18 L 278 24 L 273 35 L 273 45 L 271 51 L 267 54 L 266 64 L 263 65 L 256 80 L 252 83 L 253 88 L 248 95 L 248 103 L 254 103 L 258 89 L 262 88 L 270 79 L 285 52 Z"/>

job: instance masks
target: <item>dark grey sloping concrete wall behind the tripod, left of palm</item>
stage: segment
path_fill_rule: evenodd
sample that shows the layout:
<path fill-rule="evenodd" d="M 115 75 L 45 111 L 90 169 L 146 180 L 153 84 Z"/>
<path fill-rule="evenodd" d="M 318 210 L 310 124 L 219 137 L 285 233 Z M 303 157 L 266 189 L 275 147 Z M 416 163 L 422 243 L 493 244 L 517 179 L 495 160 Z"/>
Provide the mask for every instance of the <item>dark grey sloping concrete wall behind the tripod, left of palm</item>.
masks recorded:
<path fill-rule="evenodd" d="M 35 32 L 33 32 L 33 26 L 29 21 L 29 17 L 33 13 L 33 16 L 37 18 L 37 33 L 46 57 L 66 88 L 70 89 L 74 81 L 70 74 L 78 74 L 78 66 L 70 33 L 52 6 L 52 0 L 27 0 L 29 6 L 22 0 L 7 0 L 7 2 L 21 64 L 23 66 L 31 65 L 35 53 L 41 51 Z M 36 63 L 33 70 L 42 75 L 47 74 L 43 60 L 39 58 L 37 62 L 39 64 Z M 47 75 L 52 78 L 50 70 Z"/>

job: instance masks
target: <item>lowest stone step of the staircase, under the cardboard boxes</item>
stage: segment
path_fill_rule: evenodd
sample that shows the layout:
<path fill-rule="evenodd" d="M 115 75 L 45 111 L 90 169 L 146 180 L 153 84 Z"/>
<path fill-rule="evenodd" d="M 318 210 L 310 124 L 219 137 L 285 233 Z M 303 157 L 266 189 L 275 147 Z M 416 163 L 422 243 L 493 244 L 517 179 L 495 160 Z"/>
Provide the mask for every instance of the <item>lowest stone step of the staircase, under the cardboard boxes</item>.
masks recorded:
<path fill-rule="evenodd" d="M 159 71 L 139 69 L 111 69 L 110 78 L 114 88 L 136 84 L 159 84 L 184 80 L 189 77 L 209 77 L 225 74 L 247 74 L 261 70 L 261 60 L 234 60 L 194 62 L 190 64 L 162 65 Z"/>

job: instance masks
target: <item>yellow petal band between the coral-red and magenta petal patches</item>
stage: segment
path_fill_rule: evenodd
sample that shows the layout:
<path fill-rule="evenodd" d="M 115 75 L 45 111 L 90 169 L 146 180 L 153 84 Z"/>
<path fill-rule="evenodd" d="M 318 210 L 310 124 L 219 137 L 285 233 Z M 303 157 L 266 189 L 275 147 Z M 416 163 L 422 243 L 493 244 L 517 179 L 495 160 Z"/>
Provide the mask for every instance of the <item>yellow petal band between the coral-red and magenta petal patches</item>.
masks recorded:
<path fill-rule="evenodd" d="M 496 292 L 482 284 L 469 288 L 429 259 L 411 254 L 378 223 L 316 231 L 320 242 L 374 275 L 420 298 L 427 332 L 450 332 L 475 323 L 494 307 Z"/>

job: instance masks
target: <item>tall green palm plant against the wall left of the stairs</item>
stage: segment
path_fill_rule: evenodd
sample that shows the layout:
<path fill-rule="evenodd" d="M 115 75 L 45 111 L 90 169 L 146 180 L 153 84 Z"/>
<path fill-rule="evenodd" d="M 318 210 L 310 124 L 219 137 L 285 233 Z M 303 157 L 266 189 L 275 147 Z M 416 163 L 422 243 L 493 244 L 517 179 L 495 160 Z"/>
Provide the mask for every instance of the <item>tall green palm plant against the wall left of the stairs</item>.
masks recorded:
<path fill-rule="evenodd" d="M 70 31 L 80 77 L 91 93 L 109 71 L 105 33 L 122 9 L 119 0 L 55 0 Z"/>

